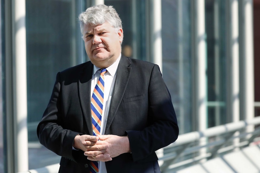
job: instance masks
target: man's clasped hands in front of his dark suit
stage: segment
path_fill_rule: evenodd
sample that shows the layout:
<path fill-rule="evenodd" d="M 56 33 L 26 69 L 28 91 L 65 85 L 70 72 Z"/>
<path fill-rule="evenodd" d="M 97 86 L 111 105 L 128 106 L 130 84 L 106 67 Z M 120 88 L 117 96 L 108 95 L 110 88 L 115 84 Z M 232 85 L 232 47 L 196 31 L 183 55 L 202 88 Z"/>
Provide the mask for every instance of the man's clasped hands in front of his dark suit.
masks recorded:
<path fill-rule="evenodd" d="M 83 150 L 87 159 L 102 162 L 131 152 L 128 136 L 117 135 L 78 135 L 74 139 L 73 147 Z"/>

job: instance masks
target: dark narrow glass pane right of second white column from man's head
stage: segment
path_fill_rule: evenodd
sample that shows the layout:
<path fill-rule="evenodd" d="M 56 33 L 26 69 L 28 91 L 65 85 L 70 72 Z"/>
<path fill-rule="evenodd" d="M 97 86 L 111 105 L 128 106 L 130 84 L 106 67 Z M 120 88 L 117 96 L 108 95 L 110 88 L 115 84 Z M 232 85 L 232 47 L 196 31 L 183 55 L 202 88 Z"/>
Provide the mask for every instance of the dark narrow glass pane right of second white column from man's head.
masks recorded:
<path fill-rule="evenodd" d="M 205 1 L 208 127 L 227 122 L 225 3 L 225 0 Z"/>

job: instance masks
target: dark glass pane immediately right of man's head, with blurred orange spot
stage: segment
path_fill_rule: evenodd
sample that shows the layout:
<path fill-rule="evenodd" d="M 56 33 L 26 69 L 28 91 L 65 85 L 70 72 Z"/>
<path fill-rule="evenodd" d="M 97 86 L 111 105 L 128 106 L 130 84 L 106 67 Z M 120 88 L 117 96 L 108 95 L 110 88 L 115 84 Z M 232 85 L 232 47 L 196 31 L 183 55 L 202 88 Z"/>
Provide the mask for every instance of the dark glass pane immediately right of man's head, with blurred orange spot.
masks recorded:
<path fill-rule="evenodd" d="M 112 5 L 122 20 L 124 41 L 122 54 L 135 59 L 146 60 L 146 9 L 145 1 L 105 0 Z"/>

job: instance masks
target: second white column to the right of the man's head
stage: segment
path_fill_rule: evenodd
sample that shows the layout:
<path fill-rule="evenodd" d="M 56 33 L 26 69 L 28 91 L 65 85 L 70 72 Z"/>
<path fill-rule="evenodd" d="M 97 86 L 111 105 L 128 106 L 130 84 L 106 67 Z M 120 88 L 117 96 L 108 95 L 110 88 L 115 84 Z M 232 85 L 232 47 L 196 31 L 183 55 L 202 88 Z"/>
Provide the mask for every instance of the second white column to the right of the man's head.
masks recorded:
<path fill-rule="evenodd" d="M 205 0 L 191 1 L 192 11 L 192 122 L 194 131 L 205 131 L 207 119 L 207 88 L 206 88 L 206 31 L 205 31 Z M 205 137 L 199 140 L 201 146 L 207 143 Z M 205 149 L 199 152 L 201 157 Z M 203 161 L 203 160 L 202 160 Z"/>

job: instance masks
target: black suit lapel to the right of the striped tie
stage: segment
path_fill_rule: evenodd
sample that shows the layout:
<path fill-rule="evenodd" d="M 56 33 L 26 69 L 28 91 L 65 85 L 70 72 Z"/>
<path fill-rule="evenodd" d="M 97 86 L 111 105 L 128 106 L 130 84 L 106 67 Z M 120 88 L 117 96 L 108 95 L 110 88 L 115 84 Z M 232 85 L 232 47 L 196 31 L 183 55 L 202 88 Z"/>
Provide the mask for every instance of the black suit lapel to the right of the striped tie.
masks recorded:
<path fill-rule="evenodd" d="M 131 67 L 129 67 L 130 64 L 131 64 L 130 61 L 126 57 L 124 56 L 121 57 L 116 72 L 116 81 L 115 81 L 112 99 L 110 103 L 110 109 L 109 109 L 108 119 L 106 123 L 105 133 L 108 131 L 110 125 L 112 124 L 112 121 L 116 115 L 116 111 L 125 93 L 125 88 L 127 86 L 130 77 L 130 72 L 132 69 Z"/>

